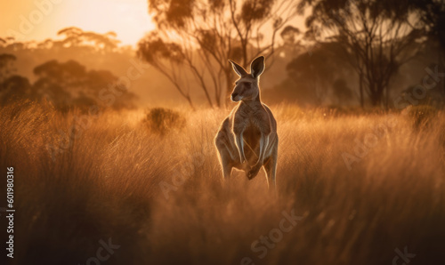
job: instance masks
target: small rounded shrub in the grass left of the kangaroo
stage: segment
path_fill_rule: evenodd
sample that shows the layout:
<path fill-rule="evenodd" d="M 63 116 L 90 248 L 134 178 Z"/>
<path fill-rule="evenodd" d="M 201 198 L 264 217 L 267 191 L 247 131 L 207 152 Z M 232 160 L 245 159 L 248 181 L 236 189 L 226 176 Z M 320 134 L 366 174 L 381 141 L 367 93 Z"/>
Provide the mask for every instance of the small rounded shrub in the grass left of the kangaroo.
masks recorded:
<path fill-rule="evenodd" d="M 181 130 L 185 126 L 185 117 L 172 109 L 151 108 L 147 111 L 143 122 L 151 132 L 164 136 L 172 130 Z"/>

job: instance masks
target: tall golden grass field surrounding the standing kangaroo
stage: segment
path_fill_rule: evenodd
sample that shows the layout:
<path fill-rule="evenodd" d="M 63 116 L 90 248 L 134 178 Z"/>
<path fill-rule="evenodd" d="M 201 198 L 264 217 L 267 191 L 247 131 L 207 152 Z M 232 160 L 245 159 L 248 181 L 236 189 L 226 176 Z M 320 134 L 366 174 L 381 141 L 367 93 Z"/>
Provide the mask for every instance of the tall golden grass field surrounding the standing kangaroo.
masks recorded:
<path fill-rule="evenodd" d="M 161 136 L 143 111 L 75 121 L 49 106 L 0 108 L 0 163 L 15 173 L 12 264 L 96 264 L 109 238 L 120 247 L 101 264 L 402 264 L 405 247 L 409 264 L 445 261 L 444 113 L 416 126 L 395 112 L 271 106 L 274 193 L 263 171 L 222 185 L 213 141 L 229 109 L 176 110 L 185 127 Z M 279 237 L 293 211 L 301 220 Z M 276 242 L 253 251 L 271 231 Z"/>

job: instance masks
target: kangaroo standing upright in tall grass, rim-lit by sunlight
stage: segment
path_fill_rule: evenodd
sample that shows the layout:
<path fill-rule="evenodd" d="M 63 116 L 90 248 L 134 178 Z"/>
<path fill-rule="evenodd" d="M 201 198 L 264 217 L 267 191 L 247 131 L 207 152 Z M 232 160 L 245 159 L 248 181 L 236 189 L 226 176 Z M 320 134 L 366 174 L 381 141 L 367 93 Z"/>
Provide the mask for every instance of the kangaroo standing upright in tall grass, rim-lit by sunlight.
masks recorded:
<path fill-rule="evenodd" d="M 214 144 L 223 168 L 223 179 L 231 176 L 233 167 L 252 180 L 264 167 L 268 187 L 275 188 L 278 144 L 277 121 L 260 98 L 259 77 L 264 71 L 264 56 L 252 61 L 250 73 L 229 60 L 239 76 L 231 100 L 239 102 L 221 124 Z"/>

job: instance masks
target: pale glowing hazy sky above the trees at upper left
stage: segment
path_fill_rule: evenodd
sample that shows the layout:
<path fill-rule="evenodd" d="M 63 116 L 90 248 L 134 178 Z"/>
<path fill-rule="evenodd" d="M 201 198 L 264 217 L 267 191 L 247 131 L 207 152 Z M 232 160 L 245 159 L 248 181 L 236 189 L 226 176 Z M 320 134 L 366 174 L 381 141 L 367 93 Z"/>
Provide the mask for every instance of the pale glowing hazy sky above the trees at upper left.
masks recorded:
<path fill-rule="evenodd" d="M 61 28 L 114 31 L 123 44 L 136 44 L 154 28 L 147 0 L 1 0 L 0 36 L 20 40 L 55 38 Z M 25 22 L 24 22 L 25 21 Z"/>

